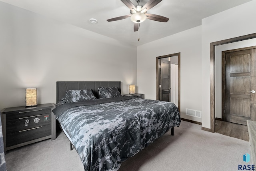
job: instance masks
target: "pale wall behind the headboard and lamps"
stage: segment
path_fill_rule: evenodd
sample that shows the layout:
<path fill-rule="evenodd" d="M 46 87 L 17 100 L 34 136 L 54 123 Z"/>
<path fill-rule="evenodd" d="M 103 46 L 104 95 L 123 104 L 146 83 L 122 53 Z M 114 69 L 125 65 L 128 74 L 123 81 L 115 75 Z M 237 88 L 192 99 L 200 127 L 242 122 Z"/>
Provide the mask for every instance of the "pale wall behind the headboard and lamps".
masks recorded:
<path fill-rule="evenodd" d="M 0 109 L 56 102 L 56 81 L 121 81 L 137 85 L 136 47 L 0 2 Z"/>

